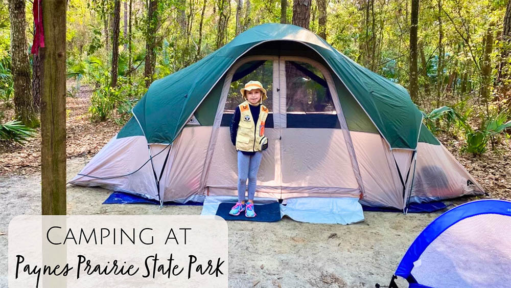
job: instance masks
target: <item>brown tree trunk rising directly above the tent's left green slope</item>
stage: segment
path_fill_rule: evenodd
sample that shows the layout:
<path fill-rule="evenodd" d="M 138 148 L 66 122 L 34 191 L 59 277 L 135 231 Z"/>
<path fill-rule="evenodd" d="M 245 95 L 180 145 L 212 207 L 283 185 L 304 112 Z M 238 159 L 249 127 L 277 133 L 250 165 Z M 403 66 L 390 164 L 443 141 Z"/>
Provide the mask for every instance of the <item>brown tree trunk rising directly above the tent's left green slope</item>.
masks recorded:
<path fill-rule="evenodd" d="M 156 25 L 158 24 L 158 16 L 156 14 L 156 8 L 158 7 L 157 0 L 150 0 L 149 7 L 147 9 L 147 35 L 146 35 L 146 60 L 144 67 L 144 78 L 146 81 L 146 87 L 149 87 L 153 82 L 154 72 L 154 46 L 156 41 Z"/>

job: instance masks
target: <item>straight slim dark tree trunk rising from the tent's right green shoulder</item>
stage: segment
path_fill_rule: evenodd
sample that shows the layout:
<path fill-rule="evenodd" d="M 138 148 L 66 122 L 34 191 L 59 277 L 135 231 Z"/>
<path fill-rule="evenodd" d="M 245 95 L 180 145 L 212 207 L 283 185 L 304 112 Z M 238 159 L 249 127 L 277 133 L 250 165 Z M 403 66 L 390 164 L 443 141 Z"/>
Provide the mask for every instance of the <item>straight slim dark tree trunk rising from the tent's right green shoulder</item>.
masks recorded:
<path fill-rule="evenodd" d="M 410 97 L 419 100 L 419 79 L 417 75 L 417 28 L 419 27 L 419 0 L 411 0 L 410 22 Z"/>

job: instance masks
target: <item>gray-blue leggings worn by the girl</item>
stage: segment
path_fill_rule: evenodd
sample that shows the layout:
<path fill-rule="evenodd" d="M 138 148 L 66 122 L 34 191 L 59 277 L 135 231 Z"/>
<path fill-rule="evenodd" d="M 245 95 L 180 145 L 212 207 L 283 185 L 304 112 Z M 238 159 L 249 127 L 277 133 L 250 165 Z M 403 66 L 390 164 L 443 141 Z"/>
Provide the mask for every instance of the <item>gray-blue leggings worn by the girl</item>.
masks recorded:
<path fill-rule="evenodd" d="M 255 183 L 257 172 L 261 164 L 261 151 L 255 152 L 253 156 L 245 155 L 238 151 L 238 201 L 245 201 L 245 191 L 248 179 L 248 200 L 254 200 Z"/>

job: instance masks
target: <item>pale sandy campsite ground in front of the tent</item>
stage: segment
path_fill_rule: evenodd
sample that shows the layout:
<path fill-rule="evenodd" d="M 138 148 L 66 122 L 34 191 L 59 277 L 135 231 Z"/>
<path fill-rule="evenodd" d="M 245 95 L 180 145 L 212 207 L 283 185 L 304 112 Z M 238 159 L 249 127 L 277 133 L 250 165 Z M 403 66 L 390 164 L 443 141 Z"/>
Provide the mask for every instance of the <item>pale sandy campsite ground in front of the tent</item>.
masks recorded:
<path fill-rule="evenodd" d="M 67 180 L 85 165 L 67 161 Z M 197 215 L 200 206 L 102 205 L 110 191 L 67 187 L 67 213 Z M 0 176 L 0 287 L 7 286 L 7 230 L 16 215 L 40 214 L 40 175 Z M 228 221 L 229 287 L 387 285 L 417 234 L 439 213 L 365 212 L 355 225 Z M 2 235 L 6 233 L 5 235 Z M 337 235 L 330 238 L 332 233 Z M 407 287 L 400 279 L 400 287 Z"/>

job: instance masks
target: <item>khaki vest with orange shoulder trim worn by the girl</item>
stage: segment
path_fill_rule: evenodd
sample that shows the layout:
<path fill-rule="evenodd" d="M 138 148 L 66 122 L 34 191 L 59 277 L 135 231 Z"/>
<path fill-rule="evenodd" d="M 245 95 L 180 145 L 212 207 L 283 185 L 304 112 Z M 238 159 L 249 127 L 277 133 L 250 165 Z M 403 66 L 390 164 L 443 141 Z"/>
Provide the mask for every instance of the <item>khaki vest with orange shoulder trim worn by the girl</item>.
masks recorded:
<path fill-rule="evenodd" d="M 236 149 L 249 152 L 261 151 L 261 140 L 264 137 L 264 124 L 268 116 L 268 108 L 261 105 L 259 119 L 255 124 L 248 105 L 250 105 L 248 101 L 245 101 L 238 106 L 241 117 L 236 135 Z"/>

